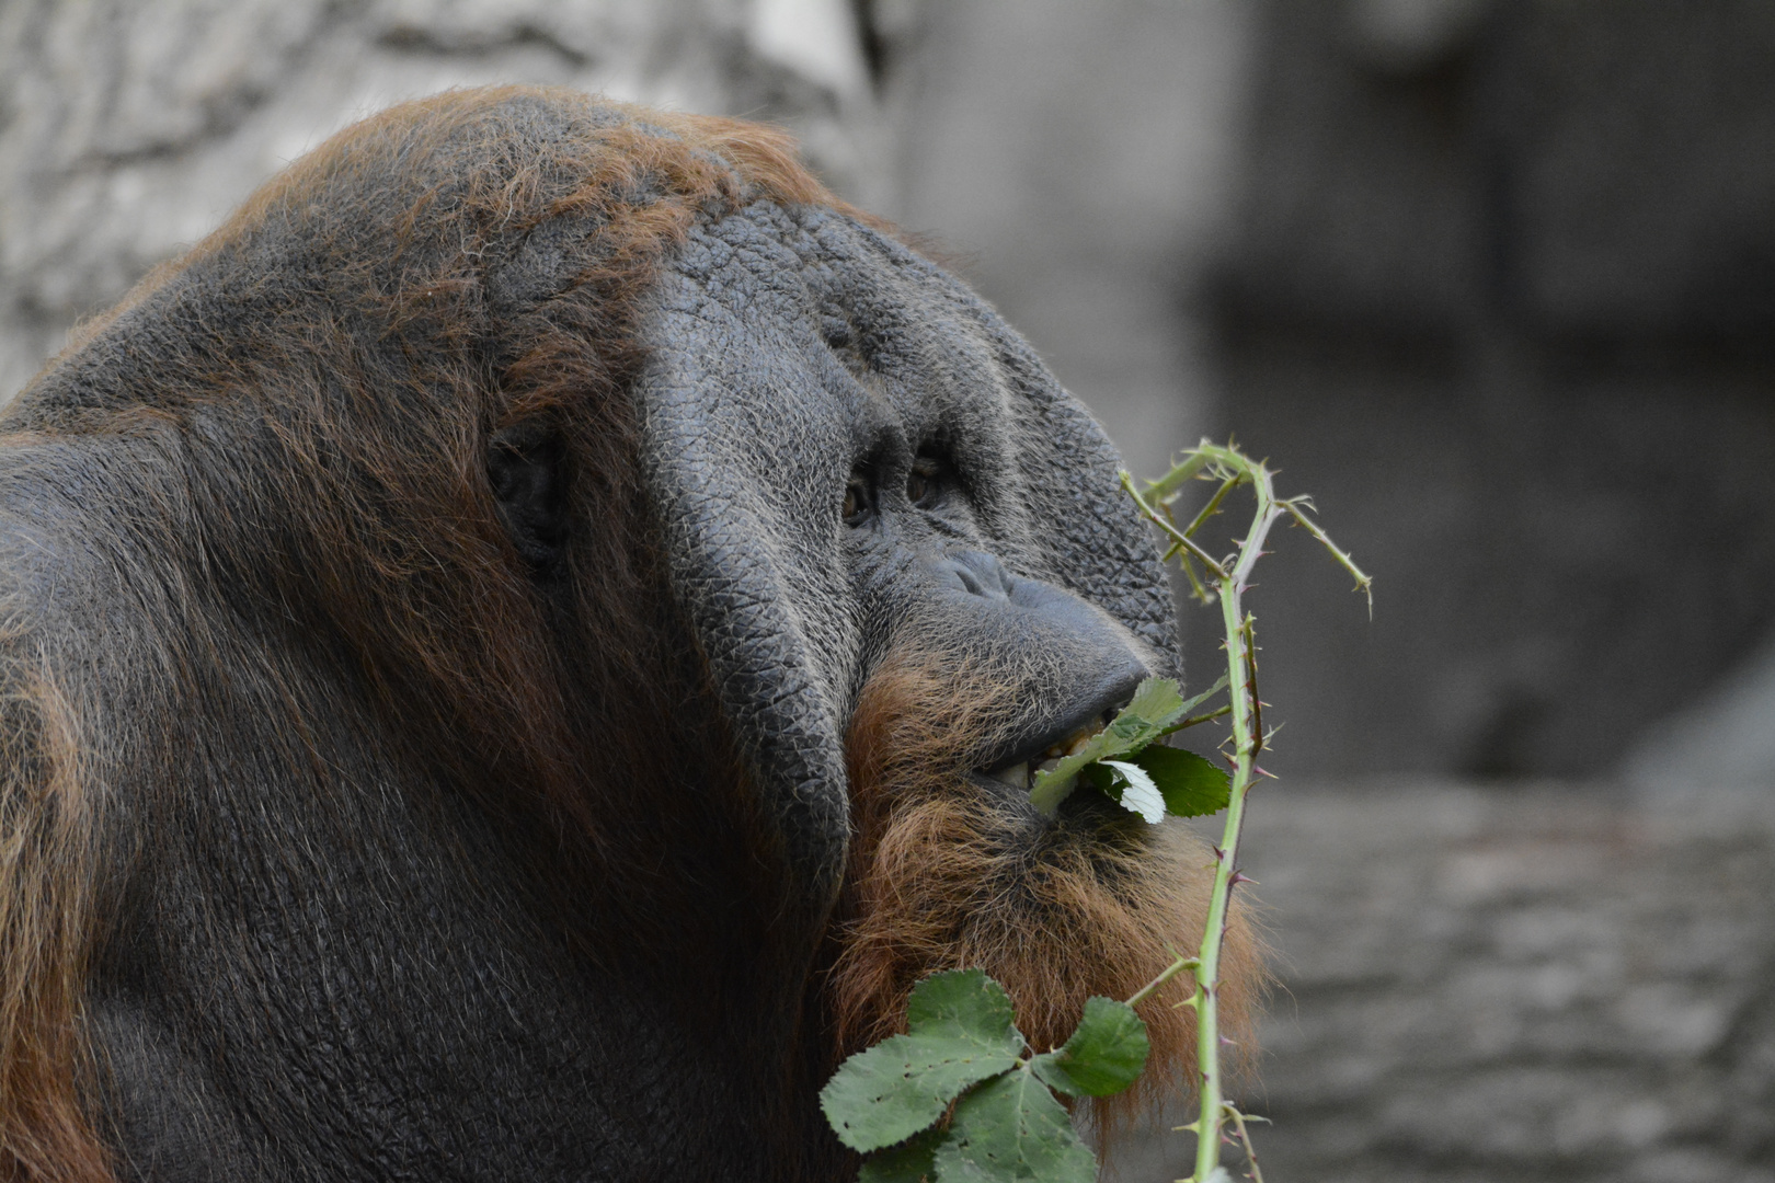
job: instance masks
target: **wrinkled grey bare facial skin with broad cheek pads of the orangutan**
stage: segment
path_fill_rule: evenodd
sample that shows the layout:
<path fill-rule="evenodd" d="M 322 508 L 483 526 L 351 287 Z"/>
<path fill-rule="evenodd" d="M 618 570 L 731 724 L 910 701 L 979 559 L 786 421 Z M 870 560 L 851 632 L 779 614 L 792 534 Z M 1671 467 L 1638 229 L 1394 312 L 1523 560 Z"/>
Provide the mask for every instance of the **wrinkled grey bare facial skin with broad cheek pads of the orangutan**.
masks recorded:
<path fill-rule="evenodd" d="M 816 894 L 843 864 L 847 708 L 932 603 L 969 649 L 1069 653 L 1063 685 L 1030 686 L 1028 740 L 1125 701 L 1134 647 L 1172 672 L 1115 452 L 937 268 L 829 211 L 754 208 L 690 234 L 648 335 L 644 468 L 674 584 Z"/>

